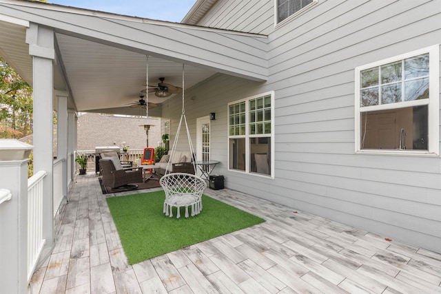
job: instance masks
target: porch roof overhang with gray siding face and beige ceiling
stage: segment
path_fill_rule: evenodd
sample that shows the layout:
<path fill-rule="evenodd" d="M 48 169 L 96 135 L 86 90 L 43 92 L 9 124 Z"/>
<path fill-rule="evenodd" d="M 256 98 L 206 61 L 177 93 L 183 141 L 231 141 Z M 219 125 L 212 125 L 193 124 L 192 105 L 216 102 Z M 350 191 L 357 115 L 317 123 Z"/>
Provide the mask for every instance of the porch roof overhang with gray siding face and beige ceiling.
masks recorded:
<path fill-rule="evenodd" d="M 127 17 L 48 3 L 0 0 L 0 55 L 28 81 L 32 58 L 28 26 L 54 31 L 54 87 L 70 93 L 79 112 L 139 115 L 128 107 L 158 78 L 185 89 L 222 73 L 252 81 L 267 79 L 267 37 L 258 34 Z M 173 97 L 173 96 L 171 96 Z M 160 105 L 163 98 L 149 95 Z M 160 107 L 152 109 L 158 112 Z"/>

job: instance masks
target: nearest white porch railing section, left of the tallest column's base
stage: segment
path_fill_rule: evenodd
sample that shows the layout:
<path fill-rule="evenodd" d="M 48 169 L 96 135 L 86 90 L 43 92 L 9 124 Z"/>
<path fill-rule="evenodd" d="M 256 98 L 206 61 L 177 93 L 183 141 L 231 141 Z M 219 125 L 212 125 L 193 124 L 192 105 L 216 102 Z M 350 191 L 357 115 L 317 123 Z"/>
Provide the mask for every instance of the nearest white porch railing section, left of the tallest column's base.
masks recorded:
<path fill-rule="evenodd" d="M 28 282 L 34 273 L 43 240 L 43 178 L 45 171 L 39 171 L 28 179 Z"/>

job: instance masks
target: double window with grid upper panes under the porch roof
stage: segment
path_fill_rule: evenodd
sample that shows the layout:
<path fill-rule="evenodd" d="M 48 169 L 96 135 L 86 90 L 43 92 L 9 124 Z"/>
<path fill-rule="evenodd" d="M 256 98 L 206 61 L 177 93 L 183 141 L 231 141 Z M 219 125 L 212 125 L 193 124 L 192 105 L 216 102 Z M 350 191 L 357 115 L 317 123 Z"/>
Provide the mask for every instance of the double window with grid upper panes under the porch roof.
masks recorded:
<path fill-rule="evenodd" d="M 228 105 L 229 169 L 272 177 L 274 92 Z"/>

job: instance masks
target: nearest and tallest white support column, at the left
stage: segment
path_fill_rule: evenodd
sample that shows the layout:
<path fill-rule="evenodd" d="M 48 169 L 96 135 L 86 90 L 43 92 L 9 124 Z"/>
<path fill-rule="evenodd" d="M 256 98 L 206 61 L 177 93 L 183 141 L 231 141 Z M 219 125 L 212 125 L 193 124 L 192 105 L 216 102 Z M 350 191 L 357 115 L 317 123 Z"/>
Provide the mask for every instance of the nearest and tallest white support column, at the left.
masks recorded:
<path fill-rule="evenodd" d="M 34 99 L 34 173 L 45 171 L 43 180 L 43 238 L 46 246 L 54 240 L 53 220 L 53 99 L 55 59 L 54 32 L 31 23 L 26 30 L 26 43 L 33 63 Z"/>

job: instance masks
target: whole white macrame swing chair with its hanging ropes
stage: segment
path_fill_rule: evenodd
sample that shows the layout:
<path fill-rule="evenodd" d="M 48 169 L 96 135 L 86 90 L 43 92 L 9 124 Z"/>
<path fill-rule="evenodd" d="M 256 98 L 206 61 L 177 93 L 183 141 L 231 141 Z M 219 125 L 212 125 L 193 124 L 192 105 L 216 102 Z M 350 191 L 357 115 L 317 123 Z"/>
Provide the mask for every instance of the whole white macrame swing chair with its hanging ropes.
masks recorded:
<path fill-rule="evenodd" d="M 187 131 L 190 154 L 192 154 L 193 168 L 196 174 L 196 158 L 194 155 L 192 138 L 190 137 L 190 133 L 188 130 L 187 118 L 185 118 L 184 65 L 182 70 L 182 89 L 181 119 L 179 120 L 178 129 L 176 130 L 176 136 L 174 138 L 172 150 L 170 151 L 170 160 L 167 163 L 165 175 L 159 180 L 159 184 L 161 185 L 161 187 L 163 187 L 165 192 L 163 213 L 165 213 L 165 216 L 170 216 L 170 218 L 172 218 L 173 216 L 173 207 L 176 207 L 176 218 L 181 217 L 181 207 L 185 207 L 185 218 L 189 217 L 189 208 L 192 209 L 192 216 L 196 216 L 197 214 L 201 213 L 202 193 L 207 187 L 205 180 L 196 175 L 170 172 L 170 162 L 172 162 L 172 158 L 174 157 L 179 133 L 181 132 L 181 125 L 184 121 L 185 129 Z"/>

